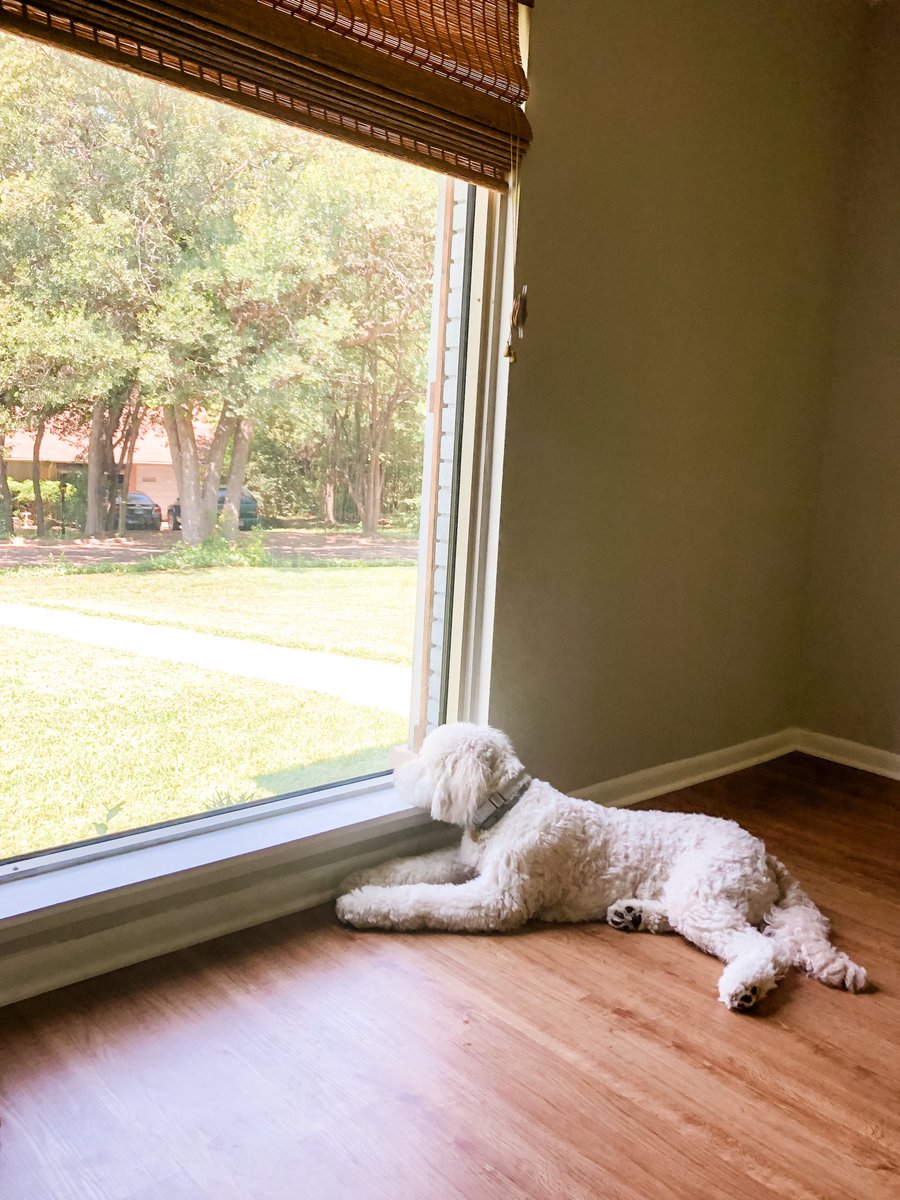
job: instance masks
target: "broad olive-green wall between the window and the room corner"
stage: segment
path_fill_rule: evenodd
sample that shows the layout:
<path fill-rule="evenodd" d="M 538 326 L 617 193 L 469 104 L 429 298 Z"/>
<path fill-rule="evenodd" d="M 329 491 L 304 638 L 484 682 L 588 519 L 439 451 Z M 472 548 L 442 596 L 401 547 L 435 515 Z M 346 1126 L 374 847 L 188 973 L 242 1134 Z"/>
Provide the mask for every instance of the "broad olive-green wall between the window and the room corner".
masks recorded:
<path fill-rule="evenodd" d="M 577 788 L 796 722 L 858 0 L 539 0 L 491 720 Z"/>

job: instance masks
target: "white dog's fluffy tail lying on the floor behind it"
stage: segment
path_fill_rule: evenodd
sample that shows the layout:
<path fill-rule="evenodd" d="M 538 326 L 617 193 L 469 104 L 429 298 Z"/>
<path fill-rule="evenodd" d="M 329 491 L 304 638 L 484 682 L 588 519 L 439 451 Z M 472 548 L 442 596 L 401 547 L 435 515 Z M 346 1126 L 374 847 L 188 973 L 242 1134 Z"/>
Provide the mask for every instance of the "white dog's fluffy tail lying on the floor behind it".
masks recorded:
<path fill-rule="evenodd" d="M 863 991 L 865 968 L 832 946 L 828 918 L 816 908 L 784 863 L 766 856 L 779 886 L 779 899 L 763 917 L 764 932 L 773 937 L 790 962 L 829 988 Z"/>

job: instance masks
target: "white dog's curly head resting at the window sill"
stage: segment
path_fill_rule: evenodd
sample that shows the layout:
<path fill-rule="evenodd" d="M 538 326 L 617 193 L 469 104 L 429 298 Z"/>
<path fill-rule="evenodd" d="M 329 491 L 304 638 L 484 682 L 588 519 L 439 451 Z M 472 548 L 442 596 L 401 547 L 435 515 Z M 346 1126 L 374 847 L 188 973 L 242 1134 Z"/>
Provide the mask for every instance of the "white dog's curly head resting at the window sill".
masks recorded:
<path fill-rule="evenodd" d="M 505 733 L 487 725 L 443 725 L 415 758 L 397 767 L 400 794 L 436 821 L 469 824 L 479 804 L 522 769 Z"/>

